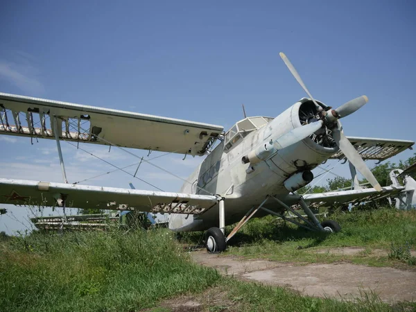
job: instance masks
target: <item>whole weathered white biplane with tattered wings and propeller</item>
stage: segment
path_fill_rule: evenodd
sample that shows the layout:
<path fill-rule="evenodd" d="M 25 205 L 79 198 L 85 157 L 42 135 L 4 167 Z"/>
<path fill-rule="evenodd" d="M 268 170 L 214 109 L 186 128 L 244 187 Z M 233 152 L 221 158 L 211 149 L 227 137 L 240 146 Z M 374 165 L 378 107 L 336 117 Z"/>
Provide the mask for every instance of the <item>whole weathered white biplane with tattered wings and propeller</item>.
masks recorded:
<path fill-rule="evenodd" d="M 364 160 L 381 162 L 412 148 L 414 142 L 346 137 L 340 119 L 365 105 L 367 96 L 333 109 L 315 100 L 286 55 L 280 56 L 309 98 L 301 98 L 275 118 L 246 117 L 227 132 L 220 125 L 0 93 L 0 134 L 54 139 L 64 179 L 56 183 L 0 178 L 0 203 L 167 213 L 173 231 L 206 231 L 208 252 L 223 252 L 253 216 L 272 214 L 307 229 L 338 232 L 338 223 L 320 222 L 311 208 L 392 197 L 397 208 L 412 209 L 415 180 L 404 174 L 401 184 L 398 177 L 403 172 L 395 171 L 390 175 L 393 184 L 381 187 Z M 94 187 L 68 183 L 61 140 L 114 146 L 172 175 L 126 148 L 206 157 L 179 193 Z M 327 159 L 349 162 L 354 188 L 297 194 L 313 181 L 312 170 Z M 372 188 L 360 187 L 356 170 Z M 297 218 L 288 218 L 285 211 Z M 234 223 L 225 236 L 225 225 Z"/>

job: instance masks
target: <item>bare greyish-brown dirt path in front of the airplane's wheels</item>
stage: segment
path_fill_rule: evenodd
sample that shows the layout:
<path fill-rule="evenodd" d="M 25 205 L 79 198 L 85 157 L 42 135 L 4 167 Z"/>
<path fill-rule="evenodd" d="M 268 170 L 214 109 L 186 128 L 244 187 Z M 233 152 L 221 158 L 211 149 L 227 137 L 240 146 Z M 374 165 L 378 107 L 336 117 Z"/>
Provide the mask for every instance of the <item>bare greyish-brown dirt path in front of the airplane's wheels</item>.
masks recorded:
<path fill-rule="evenodd" d="M 224 275 L 288 286 L 304 295 L 317 297 L 361 297 L 376 293 L 384 302 L 416 301 L 416 272 L 395 268 L 357 266 L 351 263 L 315 263 L 295 266 L 265 260 L 219 257 L 205 250 L 191 253 L 193 260 L 216 268 Z"/>

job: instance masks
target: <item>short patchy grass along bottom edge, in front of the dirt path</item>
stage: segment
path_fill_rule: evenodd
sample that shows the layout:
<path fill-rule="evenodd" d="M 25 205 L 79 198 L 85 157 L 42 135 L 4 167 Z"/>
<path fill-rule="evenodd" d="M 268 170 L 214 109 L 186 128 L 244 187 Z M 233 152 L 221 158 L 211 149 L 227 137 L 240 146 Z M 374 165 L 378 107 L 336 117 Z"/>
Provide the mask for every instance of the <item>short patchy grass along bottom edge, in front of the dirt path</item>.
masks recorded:
<path fill-rule="evenodd" d="M 193 305 L 193 309 L 189 307 Z M 195 305 L 196 304 L 196 305 Z M 390 306 L 372 292 L 352 300 L 302 296 L 283 287 L 264 286 L 232 277 L 221 278 L 203 293 L 164 300 L 151 311 L 415 311 L 416 304 Z"/>

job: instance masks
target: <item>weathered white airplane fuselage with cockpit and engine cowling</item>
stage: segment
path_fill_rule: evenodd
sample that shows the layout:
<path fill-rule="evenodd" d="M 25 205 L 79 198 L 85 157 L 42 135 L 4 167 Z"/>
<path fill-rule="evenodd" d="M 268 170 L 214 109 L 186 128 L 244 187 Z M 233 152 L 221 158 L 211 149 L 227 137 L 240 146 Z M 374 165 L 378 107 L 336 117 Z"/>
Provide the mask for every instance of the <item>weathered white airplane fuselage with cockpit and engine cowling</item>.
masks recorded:
<path fill-rule="evenodd" d="M 247 119 L 239 121 L 237 127 L 234 125 L 227 132 L 225 139 L 189 176 L 189 183 L 183 184 L 180 192 L 223 196 L 227 225 L 240 220 L 268 195 L 286 198 L 291 192 L 287 185 L 285 187 L 289 177 L 311 171 L 338 148 L 331 145 L 331 142 L 320 142 L 315 137 L 307 137 L 254 165 L 250 162 L 245 164 L 242 158 L 270 140 L 275 141 L 286 132 L 307 123 L 308 118 L 312 119 L 318 109 L 309 98 L 302 98 L 275 119 L 251 117 L 252 123 L 258 123 L 256 118 L 267 121 L 254 130 L 240 129 L 247 127 L 248 123 Z M 266 207 L 275 211 L 281 209 L 270 204 Z M 198 231 L 218 227 L 218 222 L 218 207 L 212 207 L 200 216 L 172 214 L 169 228 L 175 231 Z"/>

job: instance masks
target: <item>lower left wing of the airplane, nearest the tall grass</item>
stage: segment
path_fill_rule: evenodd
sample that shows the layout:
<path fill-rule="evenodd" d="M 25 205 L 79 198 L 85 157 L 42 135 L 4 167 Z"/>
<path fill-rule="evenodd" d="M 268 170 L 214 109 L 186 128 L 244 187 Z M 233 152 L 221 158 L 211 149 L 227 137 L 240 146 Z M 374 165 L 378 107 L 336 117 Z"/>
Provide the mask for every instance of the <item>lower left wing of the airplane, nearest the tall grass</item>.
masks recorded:
<path fill-rule="evenodd" d="M 216 196 L 0 178 L 0 203 L 40 207 L 202 214 Z"/>

